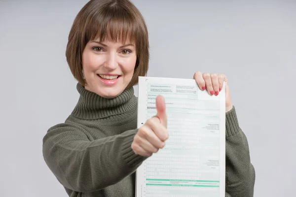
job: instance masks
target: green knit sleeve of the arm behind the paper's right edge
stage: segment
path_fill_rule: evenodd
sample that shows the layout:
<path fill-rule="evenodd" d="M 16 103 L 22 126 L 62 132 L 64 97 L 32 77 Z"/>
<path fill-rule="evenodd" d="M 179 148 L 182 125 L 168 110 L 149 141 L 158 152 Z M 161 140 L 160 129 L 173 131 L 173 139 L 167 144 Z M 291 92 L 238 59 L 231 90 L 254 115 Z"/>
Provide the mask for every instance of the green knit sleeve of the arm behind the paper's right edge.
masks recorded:
<path fill-rule="evenodd" d="M 225 197 L 253 197 L 255 169 L 249 145 L 237 121 L 235 108 L 226 113 Z"/>

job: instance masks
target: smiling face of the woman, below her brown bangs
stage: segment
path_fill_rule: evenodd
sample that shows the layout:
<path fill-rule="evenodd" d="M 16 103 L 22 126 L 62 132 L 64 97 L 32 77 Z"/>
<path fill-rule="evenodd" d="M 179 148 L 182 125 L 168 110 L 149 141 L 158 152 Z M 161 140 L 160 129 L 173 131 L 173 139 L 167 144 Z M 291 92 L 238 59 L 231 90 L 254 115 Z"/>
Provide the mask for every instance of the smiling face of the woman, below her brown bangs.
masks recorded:
<path fill-rule="evenodd" d="M 87 43 L 82 53 L 85 89 L 104 98 L 120 95 L 131 81 L 137 55 L 134 43 L 105 39 Z"/>

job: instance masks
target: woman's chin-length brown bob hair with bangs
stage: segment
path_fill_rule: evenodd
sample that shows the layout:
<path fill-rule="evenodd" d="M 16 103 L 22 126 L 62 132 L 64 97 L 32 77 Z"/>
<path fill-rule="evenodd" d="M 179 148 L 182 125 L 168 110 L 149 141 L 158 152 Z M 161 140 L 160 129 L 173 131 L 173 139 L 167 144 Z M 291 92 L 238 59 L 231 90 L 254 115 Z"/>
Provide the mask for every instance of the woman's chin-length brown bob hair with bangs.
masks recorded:
<path fill-rule="evenodd" d="M 86 44 L 100 36 L 103 41 L 111 35 L 114 41 L 128 38 L 136 44 L 137 61 L 134 75 L 126 88 L 146 76 L 149 61 L 148 31 L 140 11 L 129 0 L 90 0 L 77 14 L 69 33 L 66 58 L 74 78 L 83 86 L 82 52 Z"/>

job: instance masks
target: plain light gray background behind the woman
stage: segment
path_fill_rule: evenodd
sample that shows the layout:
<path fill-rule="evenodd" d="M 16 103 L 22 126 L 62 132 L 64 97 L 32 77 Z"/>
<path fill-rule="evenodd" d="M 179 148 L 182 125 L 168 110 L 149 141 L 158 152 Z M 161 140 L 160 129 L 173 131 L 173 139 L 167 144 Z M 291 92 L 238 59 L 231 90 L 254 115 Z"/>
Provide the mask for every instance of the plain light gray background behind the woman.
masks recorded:
<path fill-rule="evenodd" d="M 0 0 L 1 197 L 67 196 L 41 147 L 78 99 L 65 49 L 86 2 Z M 148 25 L 148 76 L 225 73 L 256 168 L 255 197 L 295 196 L 296 0 L 134 3 Z"/>

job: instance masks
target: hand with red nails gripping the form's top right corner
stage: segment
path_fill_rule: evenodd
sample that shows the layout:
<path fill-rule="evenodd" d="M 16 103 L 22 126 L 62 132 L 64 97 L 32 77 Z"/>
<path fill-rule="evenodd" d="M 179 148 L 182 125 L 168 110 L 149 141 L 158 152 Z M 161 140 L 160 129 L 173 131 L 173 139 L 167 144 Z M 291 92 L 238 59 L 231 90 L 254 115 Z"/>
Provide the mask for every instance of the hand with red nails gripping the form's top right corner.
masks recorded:
<path fill-rule="evenodd" d="M 232 103 L 226 75 L 217 73 L 201 73 L 200 71 L 197 71 L 194 73 L 193 79 L 195 79 L 201 90 L 207 89 L 209 95 L 212 95 L 213 97 L 215 97 L 214 95 L 219 95 L 219 92 L 223 87 L 223 82 L 225 81 L 225 107 L 226 112 L 230 111 Z"/>

